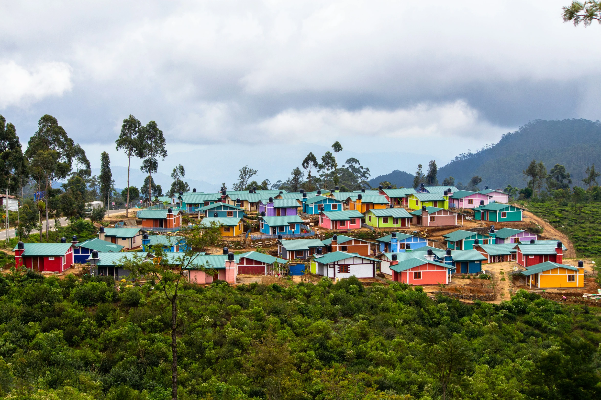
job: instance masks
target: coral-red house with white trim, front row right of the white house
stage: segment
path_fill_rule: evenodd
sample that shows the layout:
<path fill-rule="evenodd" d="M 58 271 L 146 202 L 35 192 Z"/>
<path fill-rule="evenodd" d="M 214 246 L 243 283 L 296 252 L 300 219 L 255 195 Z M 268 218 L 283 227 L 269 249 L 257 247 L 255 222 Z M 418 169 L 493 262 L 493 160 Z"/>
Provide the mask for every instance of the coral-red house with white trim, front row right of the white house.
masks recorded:
<path fill-rule="evenodd" d="M 428 255 L 421 257 L 397 261 L 396 254 L 392 254 L 390 269 L 392 270 L 392 280 L 411 285 L 439 285 L 448 284 L 451 281 L 452 270 L 454 266 L 442 264 L 434 261 L 434 253 L 430 254 L 432 249 L 428 250 Z"/>

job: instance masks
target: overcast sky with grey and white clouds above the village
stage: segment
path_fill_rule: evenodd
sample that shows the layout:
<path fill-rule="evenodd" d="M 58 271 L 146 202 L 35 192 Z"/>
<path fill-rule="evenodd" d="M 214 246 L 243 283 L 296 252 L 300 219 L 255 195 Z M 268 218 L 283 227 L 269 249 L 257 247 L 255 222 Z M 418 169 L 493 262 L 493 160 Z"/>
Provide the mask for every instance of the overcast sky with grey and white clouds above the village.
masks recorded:
<path fill-rule="evenodd" d="M 161 172 L 213 184 L 244 164 L 285 179 L 335 140 L 373 176 L 415 172 L 599 118 L 601 26 L 562 23 L 569 2 L 4 1 L 0 113 L 23 143 L 55 116 L 93 167 L 127 166 L 133 114 L 165 133 Z"/>

